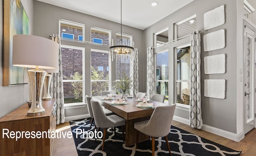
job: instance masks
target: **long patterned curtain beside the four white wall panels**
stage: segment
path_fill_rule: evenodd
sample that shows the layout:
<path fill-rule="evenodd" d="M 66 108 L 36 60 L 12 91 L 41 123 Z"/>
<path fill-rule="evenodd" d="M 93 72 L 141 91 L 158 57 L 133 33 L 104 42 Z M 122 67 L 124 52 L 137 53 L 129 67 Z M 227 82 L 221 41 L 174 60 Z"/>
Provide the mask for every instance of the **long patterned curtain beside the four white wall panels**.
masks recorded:
<path fill-rule="evenodd" d="M 190 79 L 190 126 L 201 129 L 203 126 L 201 109 L 201 37 L 200 32 L 191 35 L 191 79 Z"/>

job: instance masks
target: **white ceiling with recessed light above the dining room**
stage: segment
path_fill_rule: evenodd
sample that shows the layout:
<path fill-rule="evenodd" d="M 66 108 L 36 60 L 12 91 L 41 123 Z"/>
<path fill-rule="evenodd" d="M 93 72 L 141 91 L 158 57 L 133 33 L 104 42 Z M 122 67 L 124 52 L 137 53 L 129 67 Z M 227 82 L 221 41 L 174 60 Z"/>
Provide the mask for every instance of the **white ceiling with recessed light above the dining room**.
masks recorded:
<path fill-rule="evenodd" d="M 120 23 L 121 0 L 38 0 Z M 193 0 L 122 0 L 122 24 L 144 30 Z M 158 2 L 157 6 L 151 6 Z"/>

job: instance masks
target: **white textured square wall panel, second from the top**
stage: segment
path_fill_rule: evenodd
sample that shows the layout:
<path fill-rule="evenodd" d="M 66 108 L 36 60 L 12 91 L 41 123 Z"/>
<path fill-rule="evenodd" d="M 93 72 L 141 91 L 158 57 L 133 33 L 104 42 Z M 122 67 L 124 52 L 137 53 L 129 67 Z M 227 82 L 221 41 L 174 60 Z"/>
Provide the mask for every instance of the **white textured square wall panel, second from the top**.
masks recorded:
<path fill-rule="evenodd" d="M 204 51 L 222 49 L 226 46 L 225 30 L 218 30 L 204 35 Z"/>

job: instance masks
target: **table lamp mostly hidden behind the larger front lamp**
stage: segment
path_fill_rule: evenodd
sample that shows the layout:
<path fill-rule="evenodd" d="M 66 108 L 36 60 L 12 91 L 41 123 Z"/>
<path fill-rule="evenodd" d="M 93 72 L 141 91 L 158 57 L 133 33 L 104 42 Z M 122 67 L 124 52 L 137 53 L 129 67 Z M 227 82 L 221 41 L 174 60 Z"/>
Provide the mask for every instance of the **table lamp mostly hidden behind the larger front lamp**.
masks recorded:
<path fill-rule="evenodd" d="M 58 73 L 59 69 L 44 69 L 46 71 L 45 79 L 44 79 L 44 97 L 42 100 L 51 100 L 52 97 L 50 95 L 50 84 L 51 84 L 51 79 L 52 75 L 49 73 Z"/>

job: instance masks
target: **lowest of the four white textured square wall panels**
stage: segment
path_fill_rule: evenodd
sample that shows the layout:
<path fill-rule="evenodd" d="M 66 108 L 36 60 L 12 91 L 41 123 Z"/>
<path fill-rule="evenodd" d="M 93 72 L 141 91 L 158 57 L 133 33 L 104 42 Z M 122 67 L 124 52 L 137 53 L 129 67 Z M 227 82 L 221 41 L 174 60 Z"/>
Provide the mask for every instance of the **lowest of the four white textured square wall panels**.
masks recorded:
<path fill-rule="evenodd" d="M 226 80 L 206 79 L 204 80 L 204 96 L 217 99 L 225 99 Z"/>

